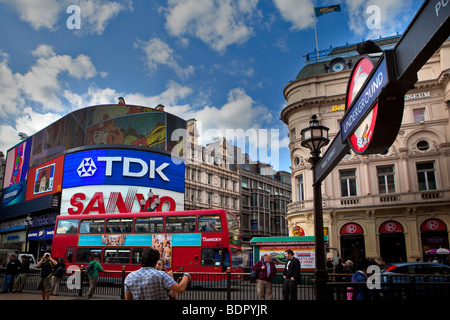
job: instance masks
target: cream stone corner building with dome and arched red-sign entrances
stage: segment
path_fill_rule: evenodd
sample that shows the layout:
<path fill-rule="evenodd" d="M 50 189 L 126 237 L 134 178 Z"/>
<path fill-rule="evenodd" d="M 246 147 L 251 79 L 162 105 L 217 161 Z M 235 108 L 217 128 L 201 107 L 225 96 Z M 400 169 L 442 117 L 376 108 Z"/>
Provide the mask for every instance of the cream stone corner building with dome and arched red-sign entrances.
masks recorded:
<path fill-rule="evenodd" d="M 399 36 L 374 40 L 391 49 Z M 309 57 L 312 57 L 311 59 Z M 284 89 L 289 127 L 292 203 L 290 235 L 314 235 L 313 176 L 300 132 L 312 114 L 333 140 L 345 111 L 347 82 L 359 54 L 355 45 L 329 49 L 307 61 Z M 449 247 L 450 227 L 450 40 L 418 73 L 405 95 L 401 129 L 382 154 L 352 151 L 322 184 L 324 231 L 342 258 L 386 262 L 428 260 L 425 252 Z M 322 155 L 327 147 L 322 149 Z M 443 258 L 443 257 L 441 257 Z"/>

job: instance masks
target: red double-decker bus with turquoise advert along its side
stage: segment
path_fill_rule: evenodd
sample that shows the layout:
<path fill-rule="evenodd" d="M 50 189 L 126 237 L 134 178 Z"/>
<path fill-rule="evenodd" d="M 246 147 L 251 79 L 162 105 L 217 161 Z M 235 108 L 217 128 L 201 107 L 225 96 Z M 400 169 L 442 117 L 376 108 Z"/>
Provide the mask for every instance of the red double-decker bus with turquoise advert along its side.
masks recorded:
<path fill-rule="evenodd" d="M 169 270 L 242 271 L 239 221 L 226 210 L 58 216 L 52 256 L 78 266 L 97 256 L 105 271 L 133 271 L 148 247 Z"/>

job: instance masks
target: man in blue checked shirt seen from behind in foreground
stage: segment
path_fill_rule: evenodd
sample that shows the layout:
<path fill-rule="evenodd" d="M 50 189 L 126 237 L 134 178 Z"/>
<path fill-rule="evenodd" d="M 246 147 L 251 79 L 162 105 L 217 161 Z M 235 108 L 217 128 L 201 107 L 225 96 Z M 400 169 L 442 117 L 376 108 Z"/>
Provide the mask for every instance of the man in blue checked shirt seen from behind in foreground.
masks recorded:
<path fill-rule="evenodd" d="M 168 300 L 168 290 L 178 294 L 186 290 L 190 275 L 185 273 L 180 283 L 166 272 L 156 270 L 159 252 L 145 249 L 142 253 L 142 268 L 133 271 L 125 279 L 125 300 Z"/>

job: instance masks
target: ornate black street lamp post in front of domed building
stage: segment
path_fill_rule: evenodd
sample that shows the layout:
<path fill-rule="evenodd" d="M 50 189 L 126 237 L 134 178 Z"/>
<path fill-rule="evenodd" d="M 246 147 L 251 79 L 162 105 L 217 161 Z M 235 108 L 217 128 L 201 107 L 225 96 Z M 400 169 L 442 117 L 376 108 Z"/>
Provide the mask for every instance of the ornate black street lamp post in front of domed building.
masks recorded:
<path fill-rule="evenodd" d="M 320 125 L 317 116 L 311 116 L 309 127 L 301 132 L 302 147 L 306 147 L 311 151 L 309 163 L 312 165 L 313 177 L 314 170 L 320 160 L 320 149 L 326 146 L 330 140 L 328 139 L 329 128 Z M 316 252 L 316 270 L 314 271 L 314 284 L 316 300 L 326 299 L 327 286 L 327 269 L 325 262 L 325 242 L 323 237 L 323 212 L 322 212 L 322 183 L 314 182 L 314 235 L 315 235 L 315 252 Z"/>

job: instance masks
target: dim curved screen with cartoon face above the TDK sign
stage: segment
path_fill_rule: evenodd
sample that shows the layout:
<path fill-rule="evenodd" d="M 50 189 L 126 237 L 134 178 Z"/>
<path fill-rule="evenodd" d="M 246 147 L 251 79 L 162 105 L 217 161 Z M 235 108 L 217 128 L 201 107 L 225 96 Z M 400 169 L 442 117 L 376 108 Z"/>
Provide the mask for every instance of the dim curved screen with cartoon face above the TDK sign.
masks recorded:
<path fill-rule="evenodd" d="M 178 129 L 184 129 L 178 130 Z M 89 145 L 143 146 L 172 151 L 185 143 L 186 121 L 153 108 L 100 105 L 74 111 L 33 135 L 31 165 Z M 176 133 L 172 140 L 173 133 Z"/>

